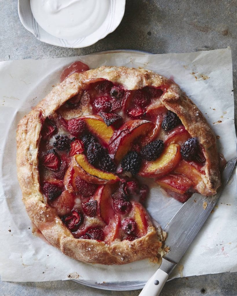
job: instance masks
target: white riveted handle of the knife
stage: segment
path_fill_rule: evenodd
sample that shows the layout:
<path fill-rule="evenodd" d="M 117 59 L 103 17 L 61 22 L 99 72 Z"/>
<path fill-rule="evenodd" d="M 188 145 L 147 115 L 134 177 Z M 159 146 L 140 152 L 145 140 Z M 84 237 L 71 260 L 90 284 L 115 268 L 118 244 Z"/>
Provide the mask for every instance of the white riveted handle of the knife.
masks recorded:
<path fill-rule="evenodd" d="M 161 269 L 153 274 L 153 276 L 145 284 L 139 296 L 158 296 L 168 279 L 168 274 Z"/>

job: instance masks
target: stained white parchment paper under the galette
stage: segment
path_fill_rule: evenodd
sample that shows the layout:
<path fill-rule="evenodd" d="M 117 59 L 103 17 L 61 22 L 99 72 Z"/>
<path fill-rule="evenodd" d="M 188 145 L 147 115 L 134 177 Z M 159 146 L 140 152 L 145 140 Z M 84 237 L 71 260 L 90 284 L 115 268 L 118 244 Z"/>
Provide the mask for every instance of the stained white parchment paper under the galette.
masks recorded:
<path fill-rule="evenodd" d="M 178 83 L 206 115 L 226 160 L 236 156 L 232 60 L 230 49 L 188 54 L 96 54 L 48 60 L 0 63 L 0 274 L 3 281 L 91 279 L 147 280 L 157 264 L 142 260 L 124 266 L 86 264 L 63 255 L 32 235 L 16 176 L 17 123 L 59 82 L 63 68 L 81 60 L 96 68 L 124 65 L 153 70 Z M 172 277 L 236 271 L 236 177 L 232 176 L 217 206 L 185 253 Z M 162 227 L 181 203 L 151 190 L 148 210 Z M 195 218 L 195 217 L 194 217 Z M 178 227 L 178 225 L 177 225 Z"/>

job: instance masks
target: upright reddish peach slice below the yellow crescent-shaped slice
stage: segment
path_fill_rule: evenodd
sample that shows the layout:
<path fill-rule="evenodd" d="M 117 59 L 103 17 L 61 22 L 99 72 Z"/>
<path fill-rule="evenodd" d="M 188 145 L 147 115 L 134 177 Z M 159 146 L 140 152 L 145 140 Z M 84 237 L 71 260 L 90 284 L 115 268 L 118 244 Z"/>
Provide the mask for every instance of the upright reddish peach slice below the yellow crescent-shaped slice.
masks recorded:
<path fill-rule="evenodd" d="M 115 191 L 116 185 L 106 184 L 101 185 L 95 192 L 94 200 L 97 200 L 97 215 L 109 223 L 110 219 L 114 216 L 115 212 L 112 207 L 111 194 Z"/>

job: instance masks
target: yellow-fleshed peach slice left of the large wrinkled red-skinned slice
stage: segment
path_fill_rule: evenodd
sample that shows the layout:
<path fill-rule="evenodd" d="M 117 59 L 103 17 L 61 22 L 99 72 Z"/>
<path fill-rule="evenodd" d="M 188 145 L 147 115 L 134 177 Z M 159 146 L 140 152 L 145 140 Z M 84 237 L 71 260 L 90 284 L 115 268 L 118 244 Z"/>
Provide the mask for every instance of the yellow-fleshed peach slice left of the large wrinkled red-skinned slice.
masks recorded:
<path fill-rule="evenodd" d="M 99 138 L 105 146 L 108 146 L 110 138 L 114 132 L 114 128 L 112 126 L 107 126 L 104 120 L 98 115 L 88 115 L 80 117 L 80 119 L 85 121 L 87 129 L 90 133 Z"/>

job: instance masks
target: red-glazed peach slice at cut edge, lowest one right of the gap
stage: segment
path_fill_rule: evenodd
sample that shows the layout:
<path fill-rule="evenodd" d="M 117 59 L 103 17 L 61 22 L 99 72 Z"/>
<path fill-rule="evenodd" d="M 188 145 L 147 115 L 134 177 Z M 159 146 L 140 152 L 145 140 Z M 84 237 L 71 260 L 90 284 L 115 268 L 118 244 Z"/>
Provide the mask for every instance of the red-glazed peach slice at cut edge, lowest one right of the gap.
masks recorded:
<path fill-rule="evenodd" d="M 156 183 L 165 190 L 172 190 L 180 194 L 184 194 L 193 185 L 193 182 L 187 177 L 174 174 L 168 174 L 158 178 L 156 179 Z"/>

